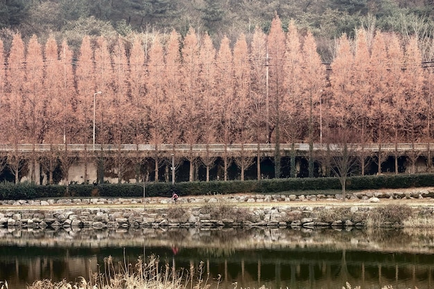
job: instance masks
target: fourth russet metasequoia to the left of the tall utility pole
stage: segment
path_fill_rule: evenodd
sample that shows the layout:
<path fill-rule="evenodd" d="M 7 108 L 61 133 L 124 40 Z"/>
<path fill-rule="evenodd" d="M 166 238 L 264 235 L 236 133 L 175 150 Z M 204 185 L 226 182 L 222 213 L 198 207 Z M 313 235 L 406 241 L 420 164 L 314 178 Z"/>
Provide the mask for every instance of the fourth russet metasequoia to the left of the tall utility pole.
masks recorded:
<path fill-rule="evenodd" d="M 227 39 L 226 37 L 223 39 Z M 229 40 L 227 40 L 229 41 Z M 205 143 L 206 152 L 200 159 L 206 168 L 206 180 L 209 182 L 209 170 L 214 166 L 216 157 L 211 155 L 209 145 L 216 142 L 218 112 L 216 98 L 216 49 L 214 49 L 211 37 L 207 33 L 202 37 L 200 46 L 200 94 L 202 101 L 197 103 L 198 110 L 202 112 L 202 135 L 201 143 Z"/>

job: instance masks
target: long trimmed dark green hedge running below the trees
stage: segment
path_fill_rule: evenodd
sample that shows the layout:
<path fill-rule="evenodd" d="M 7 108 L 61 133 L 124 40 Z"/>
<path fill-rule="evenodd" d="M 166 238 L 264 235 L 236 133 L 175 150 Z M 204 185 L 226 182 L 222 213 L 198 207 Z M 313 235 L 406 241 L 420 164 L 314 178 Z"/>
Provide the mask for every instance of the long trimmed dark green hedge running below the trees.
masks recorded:
<path fill-rule="evenodd" d="M 410 187 L 434 186 L 434 175 L 369 175 L 349 177 L 347 190 L 365 189 L 401 189 Z M 148 183 L 145 186 L 146 197 L 171 197 L 178 195 L 214 195 L 232 193 L 291 193 L 303 191 L 324 191 L 333 193 L 339 190 L 340 182 L 336 177 L 298 178 L 298 179 L 262 179 L 261 181 L 213 181 Z M 330 190 L 327 192 L 327 190 Z M 141 198 L 143 184 L 71 184 L 69 186 L 38 186 L 31 183 L 1 183 L 0 200 L 31 200 L 35 198 Z"/>

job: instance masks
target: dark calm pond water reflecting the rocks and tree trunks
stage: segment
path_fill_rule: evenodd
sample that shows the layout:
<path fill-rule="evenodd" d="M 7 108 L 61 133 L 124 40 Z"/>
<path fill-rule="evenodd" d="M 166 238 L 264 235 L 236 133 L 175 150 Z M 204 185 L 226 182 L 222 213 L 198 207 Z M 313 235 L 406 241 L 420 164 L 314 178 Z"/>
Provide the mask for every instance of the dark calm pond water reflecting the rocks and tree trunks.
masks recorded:
<path fill-rule="evenodd" d="M 75 281 L 105 260 L 198 268 L 213 288 L 434 288 L 434 233 L 422 229 L 0 229 L 0 280 Z M 221 277 L 217 286 L 216 278 Z M 237 282 L 237 283 L 235 283 Z"/>

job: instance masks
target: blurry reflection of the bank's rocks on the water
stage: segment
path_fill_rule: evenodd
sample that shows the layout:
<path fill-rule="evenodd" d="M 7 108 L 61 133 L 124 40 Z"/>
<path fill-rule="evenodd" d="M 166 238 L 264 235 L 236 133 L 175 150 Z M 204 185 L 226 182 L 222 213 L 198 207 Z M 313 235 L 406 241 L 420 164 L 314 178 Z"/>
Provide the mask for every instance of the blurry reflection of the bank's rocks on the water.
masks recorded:
<path fill-rule="evenodd" d="M 311 229 L 294 227 L 249 228 L 112 228 L 56 229 L 0 228 L 0 245 L 17 247 L 177 247 L 206 248 L 213 256 L 223 252 L 255 248 L 328 247 L 336 249 L 362 249 L 374 252 L 433 252 L 434 234 L 421 238 L 421 230 L 412 231 L 410 237 L 401 229 Z M 410 246 L 408 244 L 411 244 Z M 430 253 L 431 254 L 431 253 Z"/>

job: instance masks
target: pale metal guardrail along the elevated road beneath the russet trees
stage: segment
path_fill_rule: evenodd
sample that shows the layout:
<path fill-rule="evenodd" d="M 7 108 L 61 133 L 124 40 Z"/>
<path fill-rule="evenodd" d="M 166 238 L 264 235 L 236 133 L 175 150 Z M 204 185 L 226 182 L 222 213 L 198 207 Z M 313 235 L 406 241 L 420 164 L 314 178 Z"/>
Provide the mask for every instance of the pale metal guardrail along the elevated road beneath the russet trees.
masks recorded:
<path fill-rule="evenodd" d="M 291 150 L 293 147 L 293 144 L 291 143 L 280 143 L 279 148 L 280 150 Z M 419 151 L 424 152 L 429 150 L 434 150 L 434 143 L 369 143 L 369 144 L 361 144 L 361 143 L 349 143 L 347 144 L 347 147 L 350 150 L 354 151 L 361 151 L 361 150 L 367 150 L 370 152 L 379 152 L 379 151 L 385 151 L 385 152 L 392 152 L 394 150 L 405 152 L 405 151 Z M 161 152 L 254 152 L 254 151 L 262 151 L 262 152 L 272 152 L 275 150 L 275 144 L 274 143 L 259 143 L 259 146 L 257 143 L 232 143 L 229 145 L 224 145 L 220 143 L 212 143 L 212 144 L 159 144 L 157 146 L 153 144 L 147 144 L 147 143 L 141 143 L 141 144 L 121 144 L 121 145 L 114 145 L 114 144 L 46 144 L 46 143 L 24 143 L 19 145 L 11 145 L 11 144 L 0 144 L 0 152 L 11 152 L 11 151 L 19 151 L 19 152 L 49 152 L 51 150 L 69 150 L 69 151 L 75 151 L 75 152 L 81 152 L 84 150 L 89 150 L 91 152 L 98 151 L 98 150 L 105 150 L 105 151 L 116 151 L 116 150 L 122 150 L 122 151 L 139 151 L 139 152 L 152 152 L 155 150 L 161 151 Z M 309 151 L 309 143 L 295 143 L 294 149 L 298 151 Z M 325 143 L 313 143 L 313 150 L 327 150 L 327 144 Z M 338 143 L 330 143 L 329 144 L 329 150 L 342 150 L 342 145 Z"/>

